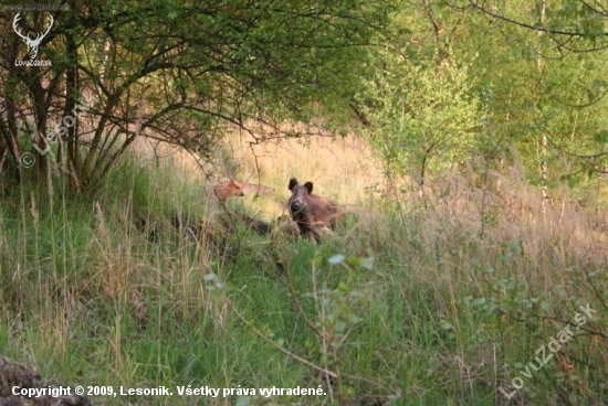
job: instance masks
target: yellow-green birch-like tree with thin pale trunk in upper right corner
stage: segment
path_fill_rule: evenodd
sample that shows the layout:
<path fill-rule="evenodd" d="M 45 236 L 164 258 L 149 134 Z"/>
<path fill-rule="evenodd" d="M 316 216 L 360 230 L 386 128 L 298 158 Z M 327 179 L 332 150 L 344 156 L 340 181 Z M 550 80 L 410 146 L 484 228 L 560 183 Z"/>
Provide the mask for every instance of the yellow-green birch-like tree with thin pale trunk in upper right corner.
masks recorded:
<path fill-rule="evenodd" d="M 524 156 L 538 151 L 530 148 L 533 137 L 545 146 L 545 152 L 525 157 L 528 168 L 544 172 L 542 182 L 605 172 L 606 10 L 598 2 L 575 0 L 448 4 L 474 24 L 472 32 L 481 33 L 470 47 L 480 54 L 478 61 L 488 62 L 480 71 L 492 86 L 490 110 L 502 110 L 493 115 L 496 132 L 518 138 Z M 547 170 L 553 175 L 547 177 Z"/>

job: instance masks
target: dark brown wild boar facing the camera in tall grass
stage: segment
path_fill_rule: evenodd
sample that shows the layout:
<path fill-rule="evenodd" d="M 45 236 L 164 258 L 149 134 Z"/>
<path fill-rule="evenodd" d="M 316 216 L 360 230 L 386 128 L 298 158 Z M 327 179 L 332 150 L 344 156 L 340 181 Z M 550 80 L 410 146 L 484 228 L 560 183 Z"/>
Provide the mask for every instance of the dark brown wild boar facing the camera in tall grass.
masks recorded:
<path fill-rule="evenodd" d="M 313 194 L 313 182 L 298 184 L 297 179 L 290 180 L 292 196 L 287 203 L 290 213 L 300 228 L 300 235 L 313 235 L 319 239 L 324 227 L 333 228 L 343 211 L 342 205 L 331 199 Z"/>

